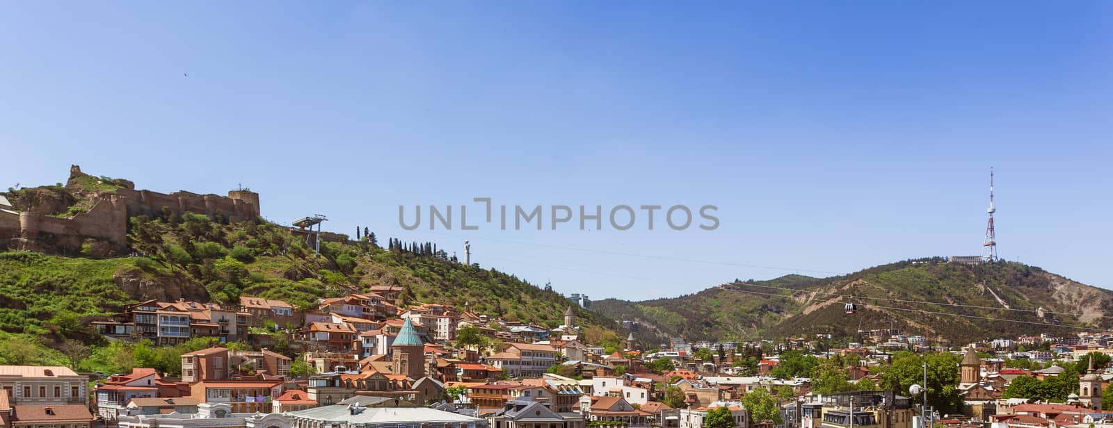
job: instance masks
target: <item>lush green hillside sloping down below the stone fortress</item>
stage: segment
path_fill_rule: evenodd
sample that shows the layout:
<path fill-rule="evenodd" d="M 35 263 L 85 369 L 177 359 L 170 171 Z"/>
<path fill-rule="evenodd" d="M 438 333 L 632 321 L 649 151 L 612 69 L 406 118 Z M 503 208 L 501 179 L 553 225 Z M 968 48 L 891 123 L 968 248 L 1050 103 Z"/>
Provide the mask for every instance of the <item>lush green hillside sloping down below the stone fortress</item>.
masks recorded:
<path fill-rule="evenodd" d="M 107 200 L 107 193 L 131 188 L 126 180 L 87 177 L 4 196 L 16 208 L 71 219 Z M 88 321 L 144 299 L 226 303 L 258 296 L 308 309 L 318 298 L 376 285 L 403 287 L 403 305 L 467 302 L 474 312 L 549 327 L 561 324 L 569 306 L 559 293 L 513 275 L 451 261 L 432 243 L 383 249 L 342 235 L 329 238 L 317 256 L 304 235 L 258 218 L 162 210 L 128 218 L 128 252 L 144 257 L 98 257 L 111 253 L 92 248 L 102 243 L 98 240 L 69 251 L 82 257 L 8 249 L 0 252 L 0 332 L 53 347 L 66 339 L 96 342 Z M 577 310 L 589 331 L 615 330 L 610 320 Z"/>

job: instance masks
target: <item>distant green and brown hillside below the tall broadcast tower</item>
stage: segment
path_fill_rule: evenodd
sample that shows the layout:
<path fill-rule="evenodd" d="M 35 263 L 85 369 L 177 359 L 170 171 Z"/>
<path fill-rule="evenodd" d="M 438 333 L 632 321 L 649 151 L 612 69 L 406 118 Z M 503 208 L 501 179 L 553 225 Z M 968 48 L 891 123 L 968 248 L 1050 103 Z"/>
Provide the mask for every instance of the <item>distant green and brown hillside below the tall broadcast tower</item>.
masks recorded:
<path fill-rule="evenodd" d="M 1032 312 L 998 309 L 1002 306 L 991 290 L 1009 308 Z M 848 299 L 831 295 L 858 297 L 859 312 L 844 313 Z M 1034 311 L 1040 307 L 1056 313 L 1038 318 Z M 1070 331 L 1056 324 L 1109 327 L 1113 325 L 1107 318 L 1111 309 L 1113 291 L 1037 267 L 1015 262 L 965 266 L 943 259 L 902 261 L 825 279 L 786 276 L 732 282 L 669 299 L 592 302 L 592 310 L 603 316 L 637 320 L 637 336 L 646 344 L 658 344 L 670 336 L 752 340 L 833 334 L 849 338 L 859 329 L 888 328 L 890 322 L 908 335 L 961 342 Z"/>

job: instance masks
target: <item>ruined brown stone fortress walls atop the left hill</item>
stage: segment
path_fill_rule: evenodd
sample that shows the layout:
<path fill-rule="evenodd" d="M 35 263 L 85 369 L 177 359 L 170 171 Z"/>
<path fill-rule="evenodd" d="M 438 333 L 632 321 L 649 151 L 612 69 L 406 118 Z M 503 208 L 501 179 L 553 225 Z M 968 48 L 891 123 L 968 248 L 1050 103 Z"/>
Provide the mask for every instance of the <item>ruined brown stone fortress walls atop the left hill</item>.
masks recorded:
<path fill-rule="evenodd" d="M 128 219 L 187 212 L 229 220 L 259 217 L 259 195 L 247 189 L 228 196 L 136 190 L 124 179 L 96 178 L 70 167 L 66 186 L 0 193 L 0 249 L 96 256 L 127 253 Z M 77 207 L 77 209 L 75 209 Z"/>

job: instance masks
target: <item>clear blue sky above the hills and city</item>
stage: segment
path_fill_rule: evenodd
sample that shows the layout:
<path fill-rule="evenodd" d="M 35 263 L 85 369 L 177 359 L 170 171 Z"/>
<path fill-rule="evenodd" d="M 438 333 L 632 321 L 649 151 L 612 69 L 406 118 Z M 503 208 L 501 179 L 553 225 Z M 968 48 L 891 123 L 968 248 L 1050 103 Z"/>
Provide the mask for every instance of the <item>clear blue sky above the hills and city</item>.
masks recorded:
<path fill-rule="evenodd" d="M 1113 3 L 740 3 L 0 2 L 0 185 L 243 183 L 273 221 L 644 299 L 977 255 L 994 167 L 1001 256 L 1113 288 Z M 474 197 L 721 225 L 398 225 Z"/>

